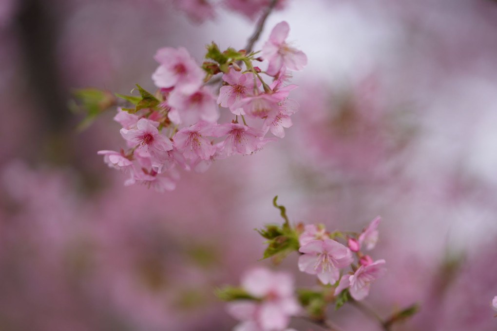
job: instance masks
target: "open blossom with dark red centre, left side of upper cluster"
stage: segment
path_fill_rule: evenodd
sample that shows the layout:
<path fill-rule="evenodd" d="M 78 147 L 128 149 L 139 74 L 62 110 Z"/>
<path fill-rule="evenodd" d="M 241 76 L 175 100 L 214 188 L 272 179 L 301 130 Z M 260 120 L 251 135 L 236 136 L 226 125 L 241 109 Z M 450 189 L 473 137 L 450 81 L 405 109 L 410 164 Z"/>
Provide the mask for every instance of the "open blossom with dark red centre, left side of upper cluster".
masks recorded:
<path fill-rule="evenodd" d="M 136 129 L 121 129 L 122 137 L 133 144 L 139 144 L 137 149 L 144 150 L 159 161 L 167 159 L 167 151 L 172 150 L 172 142 L 159 133 L 157 122 L 141 118 Z M 158 123 L 157 123 L 158 124 Z"/>

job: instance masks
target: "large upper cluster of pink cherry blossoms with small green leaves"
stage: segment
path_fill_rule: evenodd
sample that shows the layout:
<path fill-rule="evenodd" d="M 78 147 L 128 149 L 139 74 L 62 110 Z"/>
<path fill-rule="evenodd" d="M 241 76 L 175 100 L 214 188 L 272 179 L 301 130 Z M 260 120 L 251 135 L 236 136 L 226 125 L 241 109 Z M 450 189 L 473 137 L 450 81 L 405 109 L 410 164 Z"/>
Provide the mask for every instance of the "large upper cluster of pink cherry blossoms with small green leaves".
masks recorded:
<path fill-rule="evenodd" d="M 162 48 L 152 75 L 152 94 L 137 85 L 140 96 L 118 95 L 134 108 L 118 108 L 114 120 L 122 125 L 127 149 L 99 151 L 110 167 L 129 174 L 125 185 L 144 183 L 157 191 L 173 190 L 177 168 L 205 171 L 213 161 L 249 155 L 270 141 L 283 138 L 292 126 L 298 104 L 288 98 L 297 86 L 289 70 L 302 70 L 306 55 L 287 44 L 287 22 L 278 23 L 259 52 L 232 48 L 221 52 L 207 46 L 200 66 L 184 48 Z M 254 62 L 267 60 L 261 70 Z M 216 96 L 212 79 L 222 74 Z M 268 84 L 262 75 L 269 77 Z M 229 116 L 219 123 L 221 110 Z M 266 137 L 271 132 L 273 137 Z"/>

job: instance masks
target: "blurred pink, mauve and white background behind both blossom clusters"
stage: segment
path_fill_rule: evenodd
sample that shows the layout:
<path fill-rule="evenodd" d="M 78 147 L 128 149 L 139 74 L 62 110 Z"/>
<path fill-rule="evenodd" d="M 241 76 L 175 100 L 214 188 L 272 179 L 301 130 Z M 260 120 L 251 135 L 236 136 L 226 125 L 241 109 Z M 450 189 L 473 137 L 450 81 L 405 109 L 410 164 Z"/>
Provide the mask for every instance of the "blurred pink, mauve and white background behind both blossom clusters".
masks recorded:
<path fill-rule="evenodd" d="M 280 1 L 255 49 L 286 20 L 308 55 L 286 137 L 172 192 L 124 187 L 96 155 L 122 145 L 114 110 L 79 133 L 71 90 L 153 90 L 160 47 L 245 46 L 257 13 L 215 1 L 202 23 L 189 2 L 1 0 L 0 330 L 231 330 L 214 288 L 269 265 L 253 228 L 281 221 L 275 195 L 294 222 L 382 216 L 367 301 L 421 305 L 394 330 L 496 330 L 497 2 Z M 314 284 L 296 258 L 279 268 Z"/>

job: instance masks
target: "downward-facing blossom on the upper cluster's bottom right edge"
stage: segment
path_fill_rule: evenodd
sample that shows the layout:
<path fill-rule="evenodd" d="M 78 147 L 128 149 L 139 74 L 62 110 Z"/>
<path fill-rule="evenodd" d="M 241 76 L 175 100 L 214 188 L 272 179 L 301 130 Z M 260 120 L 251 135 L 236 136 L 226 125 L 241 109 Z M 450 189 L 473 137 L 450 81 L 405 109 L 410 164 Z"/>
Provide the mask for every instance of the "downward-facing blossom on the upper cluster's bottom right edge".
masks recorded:
<path fill-rule="evenodd" d="M 261 131 L 240 123 L 221 124 L 213 130 L 213 135 L 216 137 L 228 135 L 220 145 L 220 157 L 252 154 L 269 141 L 276 140 L 276 138 L 262 139 Z"/>

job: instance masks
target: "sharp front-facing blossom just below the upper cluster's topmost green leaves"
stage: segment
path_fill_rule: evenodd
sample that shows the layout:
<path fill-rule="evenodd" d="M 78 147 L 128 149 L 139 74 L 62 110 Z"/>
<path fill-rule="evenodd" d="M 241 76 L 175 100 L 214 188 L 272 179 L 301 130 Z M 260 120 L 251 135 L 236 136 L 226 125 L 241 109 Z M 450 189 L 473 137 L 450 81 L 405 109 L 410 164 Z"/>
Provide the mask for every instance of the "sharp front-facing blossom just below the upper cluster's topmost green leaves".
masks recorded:
<path fill-rule="evenodd" d="M 221 107 L 226 107 L 236 115 L 241 115 L 237 104 L 246 96 L 252 95 L 254 86 L 258 89 L 261 85 L 258 79 L 254 80 L 254 74 L 251 72 L 241 73 L 230 69 L 223 75 L 223 80 L 230 85 L 222 86 L 219 90 L 217 103 Z"/>

